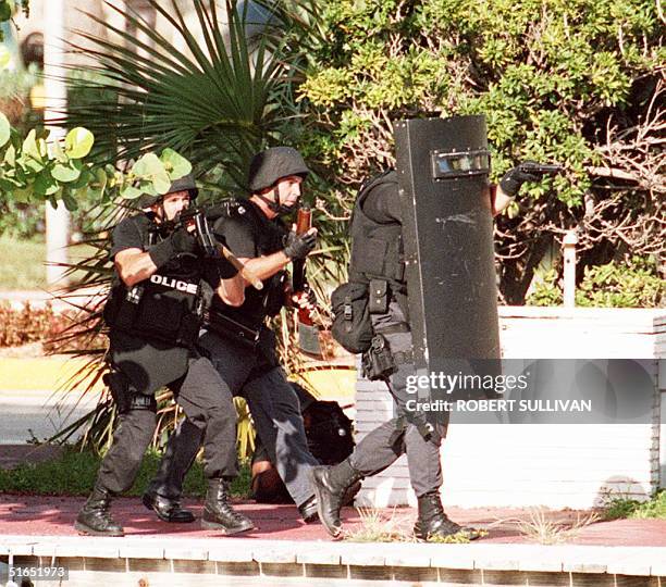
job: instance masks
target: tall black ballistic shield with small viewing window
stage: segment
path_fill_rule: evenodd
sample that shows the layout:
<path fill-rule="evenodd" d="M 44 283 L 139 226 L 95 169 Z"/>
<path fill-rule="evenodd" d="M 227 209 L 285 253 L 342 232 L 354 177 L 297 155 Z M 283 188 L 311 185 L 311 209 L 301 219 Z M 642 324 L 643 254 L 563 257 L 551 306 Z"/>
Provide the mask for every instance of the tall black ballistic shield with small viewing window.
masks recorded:
<path fill-rule="evenodd" d="M 407 120 L 394 130 L 417 373 L 497 373 L 485 121 Z"/>

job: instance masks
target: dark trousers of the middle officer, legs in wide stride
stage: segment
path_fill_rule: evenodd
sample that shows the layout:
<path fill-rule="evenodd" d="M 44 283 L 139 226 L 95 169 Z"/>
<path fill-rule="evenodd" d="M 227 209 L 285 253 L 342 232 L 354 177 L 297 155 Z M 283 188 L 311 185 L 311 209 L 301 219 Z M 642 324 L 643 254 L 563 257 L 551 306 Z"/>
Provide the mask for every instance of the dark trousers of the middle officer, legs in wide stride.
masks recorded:
<path fill-rule="evenodd" d="M 274 353 L 274 335 L 262 353 L 220 335 L 207 332 L 199 346 L 210 358 L 224 380 L 224 394 L 246 399 L 257 434 L 275 464 L 296 505 L 313 496 L 308 471 L 319 462 L 308 449 L 298 397 L 287 383 L 281 367 L 272 365 L 266 355 Z M 200 433 L 188 421 L 170 438 L 150 490 L 169 498 L 180 497 L 183 478 L 196 457 Z"/>

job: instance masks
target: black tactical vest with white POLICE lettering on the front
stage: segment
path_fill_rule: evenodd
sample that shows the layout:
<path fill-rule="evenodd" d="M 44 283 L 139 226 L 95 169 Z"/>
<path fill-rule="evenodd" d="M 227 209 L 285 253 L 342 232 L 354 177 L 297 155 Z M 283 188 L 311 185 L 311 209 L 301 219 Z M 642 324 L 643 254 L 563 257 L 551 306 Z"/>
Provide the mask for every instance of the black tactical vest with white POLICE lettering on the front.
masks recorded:
<path fill-rule="evenodd" d="M 160 238 L 157 226 L 146 230 L 144 249 Z M 133 287 L 116 278 L 104 307 L 104 321 L 110 328 L 139 338 L 189 347 L 198 338 L 203 298 L 200 260 L 184 254 Z"/>

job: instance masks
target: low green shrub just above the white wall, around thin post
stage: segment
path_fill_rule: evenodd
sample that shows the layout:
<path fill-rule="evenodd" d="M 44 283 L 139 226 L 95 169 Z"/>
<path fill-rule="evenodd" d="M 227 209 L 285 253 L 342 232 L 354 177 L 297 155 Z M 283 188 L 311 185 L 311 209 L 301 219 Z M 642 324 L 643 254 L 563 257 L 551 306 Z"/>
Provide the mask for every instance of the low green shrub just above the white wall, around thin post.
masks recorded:
<path fill-rule="evenodd" d="M 530 305 L 560 305 L 557 272 L 547 272 L 528 297 Z M 628 263 L 610 262 L 584 268 L 576 290 L 576 304 L 594 308 L 663 308 L 666 282 L 658 276 L 654 260 L 634 257 Z"/>

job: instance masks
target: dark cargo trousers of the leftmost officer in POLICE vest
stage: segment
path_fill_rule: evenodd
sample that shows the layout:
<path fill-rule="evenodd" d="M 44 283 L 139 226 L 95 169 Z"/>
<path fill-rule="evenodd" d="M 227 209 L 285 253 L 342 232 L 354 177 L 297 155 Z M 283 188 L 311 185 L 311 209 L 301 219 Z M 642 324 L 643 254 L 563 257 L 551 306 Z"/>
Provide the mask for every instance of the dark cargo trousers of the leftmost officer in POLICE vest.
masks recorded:
<path fill-rule="evenodd" d="M 211 362 L 202 357 L 189 358 L 187 372 L 169 387 L 174 390 L 189 426 L 203 438 L 206 476 L 235 477 L 238 474 L 236 411 Z M 113 445 L 101 462 L 98 487 L 111 494 L 132 487 L 156 425 L 157 414 L 149 409 L 132 409 L 120 416 Z"/>

